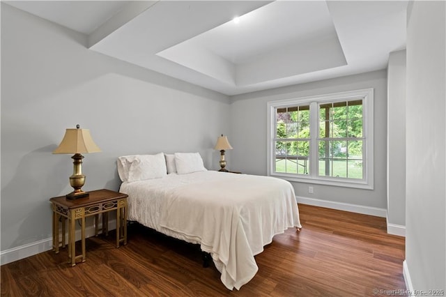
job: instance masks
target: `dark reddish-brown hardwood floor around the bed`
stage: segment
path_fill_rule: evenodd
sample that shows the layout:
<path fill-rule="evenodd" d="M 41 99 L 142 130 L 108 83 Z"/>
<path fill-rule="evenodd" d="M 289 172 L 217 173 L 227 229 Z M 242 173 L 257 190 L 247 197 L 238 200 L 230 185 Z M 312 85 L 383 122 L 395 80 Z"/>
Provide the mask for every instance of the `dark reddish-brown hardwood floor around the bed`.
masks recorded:
<path fill-rule="evenodd" d="M 114 234 L 86 240 L 86 262 L 66 248 L 1 266 L 1 296 L 379 296 L 406 289 L 404 238 L 385 218 L 299 205 L 302 230 L 288 229 L 256 256 L 259 272 L 229 291 L 198 245 L 131 224 L 128 245 Z"/>

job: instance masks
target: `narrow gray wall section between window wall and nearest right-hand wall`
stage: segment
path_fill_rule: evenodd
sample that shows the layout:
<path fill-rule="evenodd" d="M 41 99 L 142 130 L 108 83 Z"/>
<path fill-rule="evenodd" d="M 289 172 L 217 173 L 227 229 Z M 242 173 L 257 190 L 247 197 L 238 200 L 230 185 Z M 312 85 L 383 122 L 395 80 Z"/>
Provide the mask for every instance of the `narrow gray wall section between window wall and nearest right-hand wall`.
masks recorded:
<path fill-rule="evenodd" d="M 406 50 L 387 66 L 387 223 L 406 225 Z"/>

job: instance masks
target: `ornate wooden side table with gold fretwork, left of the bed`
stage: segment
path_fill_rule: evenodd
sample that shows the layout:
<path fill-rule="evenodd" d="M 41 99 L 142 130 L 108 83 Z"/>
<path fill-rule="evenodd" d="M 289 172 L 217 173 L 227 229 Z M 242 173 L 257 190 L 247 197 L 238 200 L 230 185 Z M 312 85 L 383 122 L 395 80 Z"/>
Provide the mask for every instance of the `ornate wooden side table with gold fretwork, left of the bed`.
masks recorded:
<path fill-rule="evenodd" d="M 89 197 L 75 200 L 65 196 L 53 197 L 53 250 L 58 253 L 59 246 L 65 248 L 66 221 L 68 220 L 68 263 L 76 265 L 76 260 L 86 260 L 85 253 L 85 218 L 95 216 L 95 235 L 98 235 L 98 218 L 102 213 L 102 234 L 108 234 L 108 214 L 116 211 L 116 248 L 120 243 L 127 244 L 127 197 L 112 190 L 95 190 L 89 192 Z M 75 222 L 80 220 L 82 235 L 82 254 L 76 256 Z M 62 238 L 59 240 L 59 220 L 61 220 Z"/>

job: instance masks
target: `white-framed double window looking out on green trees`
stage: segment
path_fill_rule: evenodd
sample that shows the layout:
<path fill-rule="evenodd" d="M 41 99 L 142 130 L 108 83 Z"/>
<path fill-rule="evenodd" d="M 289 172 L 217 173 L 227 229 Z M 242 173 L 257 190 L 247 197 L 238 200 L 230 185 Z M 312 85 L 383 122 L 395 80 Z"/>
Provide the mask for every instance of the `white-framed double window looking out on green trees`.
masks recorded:
<path fill-rule="evenodd" d="M 373 189 L 373 89 L 268 102 L 268 174 Z"/>

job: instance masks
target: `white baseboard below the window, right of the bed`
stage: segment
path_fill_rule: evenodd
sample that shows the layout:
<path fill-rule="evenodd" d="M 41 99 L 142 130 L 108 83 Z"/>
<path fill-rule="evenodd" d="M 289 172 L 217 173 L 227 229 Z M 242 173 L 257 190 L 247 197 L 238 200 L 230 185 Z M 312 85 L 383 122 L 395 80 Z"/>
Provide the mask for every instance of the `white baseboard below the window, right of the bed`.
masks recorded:
<path fill-rule="evenodd" d="M 339 211 L 350 211 L 352 213 L 362 213 L 364 215 L 375 215 L 376 217 L 380 218 L 386 218 L 387 217 L 387 211 L 385 208 L 377 208 L 372 206 L 362 206 L 362 205 L 356 205 L 356 204 L 349 204 L 349 203 L 343 203 L 343 202 L 335 202 L 335 201 L 328 201 L 328 200 L 322 200 L 322 199 L 314 199 L 314 198 L 307 198 L 307 197 L 295 197 L 298 203 L 302 204 L 309 204 L 313 206 L 321 206 L 326 208 L 333 208 L 337 209 Z"/>

